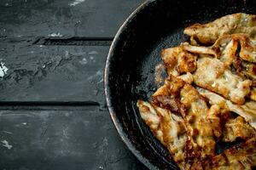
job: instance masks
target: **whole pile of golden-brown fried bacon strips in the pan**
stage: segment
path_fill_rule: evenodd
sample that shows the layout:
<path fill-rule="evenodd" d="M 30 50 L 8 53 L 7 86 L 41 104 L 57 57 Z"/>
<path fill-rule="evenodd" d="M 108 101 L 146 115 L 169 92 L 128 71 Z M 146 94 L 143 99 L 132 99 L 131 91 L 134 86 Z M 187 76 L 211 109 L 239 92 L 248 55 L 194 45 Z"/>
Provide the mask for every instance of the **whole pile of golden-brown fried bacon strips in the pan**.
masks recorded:
<path fill-rule="evenodd" d="M 256 15 L 230 14 L 184 33 L 191 45 L 162 50 L 164 85 L 150 103 L 137 101 L 143 121 L 181 169 L 256 167 Z M 246 142 L 216 156 L 218 141 L 236 139 Z"/>

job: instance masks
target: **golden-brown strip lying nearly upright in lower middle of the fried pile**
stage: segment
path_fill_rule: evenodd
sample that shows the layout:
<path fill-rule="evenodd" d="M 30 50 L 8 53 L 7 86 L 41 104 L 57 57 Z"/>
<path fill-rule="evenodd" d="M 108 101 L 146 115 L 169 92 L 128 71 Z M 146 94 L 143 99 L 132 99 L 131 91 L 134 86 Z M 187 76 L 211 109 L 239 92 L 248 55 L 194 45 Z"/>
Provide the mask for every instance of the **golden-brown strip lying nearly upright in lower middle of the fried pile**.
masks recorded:
<path fill-rule="evenodd" d="M 188 108 L 187 115 L 184 117 L 188 130 L 190 144 L 196 150 L 201 150 L 199 158 L 214 156 L 215 141 L 212 124 L 207 121 L 208 107 L 206 101 L 191 85 L 186 84 L 180 93 L 181 102 Z M 189 146 L 190 147 L 190 146 Z M 194 153 L 188 154 L 193 159 Z"/>

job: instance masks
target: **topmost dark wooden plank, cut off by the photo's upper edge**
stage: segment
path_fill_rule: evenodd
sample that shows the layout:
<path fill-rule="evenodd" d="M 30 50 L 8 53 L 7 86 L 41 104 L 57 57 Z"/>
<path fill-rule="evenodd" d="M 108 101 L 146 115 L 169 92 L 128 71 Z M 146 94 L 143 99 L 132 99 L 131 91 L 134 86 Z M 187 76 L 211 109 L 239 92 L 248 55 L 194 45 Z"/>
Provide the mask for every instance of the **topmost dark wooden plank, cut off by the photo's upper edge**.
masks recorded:
<path fill-rule="evenodd" d="M 0 37 L 113 37 L 144 0 L 2 0 Z"/>

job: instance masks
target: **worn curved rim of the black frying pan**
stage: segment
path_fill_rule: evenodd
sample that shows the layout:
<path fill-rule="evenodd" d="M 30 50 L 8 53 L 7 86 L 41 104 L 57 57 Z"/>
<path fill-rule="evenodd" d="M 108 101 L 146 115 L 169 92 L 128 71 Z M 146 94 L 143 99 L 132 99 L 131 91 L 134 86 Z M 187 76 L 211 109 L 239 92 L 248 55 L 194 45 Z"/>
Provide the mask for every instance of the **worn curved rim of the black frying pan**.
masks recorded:
<path fill-rule="evenodd" d="M 108 57 L 106 60 L 105 65 L 105 71 L 104 71 L 104 88 L 105 88 L 105 95 L 107 99 L 107 105 L 108 105 L 108 111 L 111 116 L 111 119 L 113 121 L 114 126 L 116 127 L 119 136 L 123 140 L 123 142 L 126 144 L 126 146 L 131 150 L 131 152 L 137 157 L 137 159 L 141 162 L 143 162 L 144 165 L 146 165 L 149 169 L 158 169 L 158 167 L 155 167 L 152 163 L 148 161 L 147 158 L 142 156 L 140 152 L 136 149 L 136 147 L 131 144 L 131 141 L 127 134 L 124 133 L 123 127 L 121 126 L 119 120 L 117 119 L 116 113 L 114 112 L 112 101 L 111 101 L 111 92 L 109 88 L 109 70 L 111 65 L 111 59 L 113 58 L 113 51 L 116 48 L 116 45 L 119 43 L 119 37 L 123 34 L 123 32 L 126 29 L 126 26 L 130 24 L 132 20 L 136 19 L 137 14 L 140 13 L 144 8 L 148 6 L 148 4 L 155 2 L 156 0 L 148 0 L 145 3 L 141 4 L 135 11 L 133 11 L 130 16 L 125 20 L 124 24 L 120 26 L 119 31 L 113 38 L 113 42 L 109 48 Z"/>

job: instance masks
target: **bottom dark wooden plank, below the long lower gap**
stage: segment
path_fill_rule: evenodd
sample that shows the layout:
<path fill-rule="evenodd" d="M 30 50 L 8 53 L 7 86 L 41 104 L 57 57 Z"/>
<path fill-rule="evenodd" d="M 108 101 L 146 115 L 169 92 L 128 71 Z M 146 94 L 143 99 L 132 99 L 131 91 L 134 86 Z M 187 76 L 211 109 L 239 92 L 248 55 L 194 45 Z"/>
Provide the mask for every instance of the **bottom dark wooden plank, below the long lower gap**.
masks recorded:
<path fill-rule="evenodd" d="M 143 169 L 107 111 L 0 111 L 0 169 Z"/>

